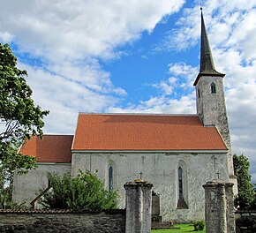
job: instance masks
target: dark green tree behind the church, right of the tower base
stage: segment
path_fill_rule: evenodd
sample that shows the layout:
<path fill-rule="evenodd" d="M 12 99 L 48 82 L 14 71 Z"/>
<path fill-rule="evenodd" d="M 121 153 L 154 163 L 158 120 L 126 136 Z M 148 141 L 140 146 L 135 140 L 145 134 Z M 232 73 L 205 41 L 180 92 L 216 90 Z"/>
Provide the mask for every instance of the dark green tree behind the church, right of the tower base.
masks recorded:
<path fill-rule="evenodd" d="M 235 199 L 235 205 L 240 208 L 252 207 L 255 199 L 255 192 L 251 182 L 252 176 L 249 174 L 250 162 L 244 155 L 233 155 L 234 172 L 237 176 L 238 195 Z"/>

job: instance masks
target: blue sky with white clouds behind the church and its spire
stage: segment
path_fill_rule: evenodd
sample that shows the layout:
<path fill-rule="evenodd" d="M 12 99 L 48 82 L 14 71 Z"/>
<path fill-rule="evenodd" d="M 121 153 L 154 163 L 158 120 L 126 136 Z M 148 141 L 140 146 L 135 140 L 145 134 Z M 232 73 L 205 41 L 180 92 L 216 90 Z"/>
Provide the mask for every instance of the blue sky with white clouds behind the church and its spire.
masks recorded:
<path fill-rule="evenodd" d="M 203 1 L 233 154 L 256 182 L 256 0 Z M 1 1 L 0 42 L 28 71 L 45 133 L 72 134 L 79 112 L 196 113 L 200 1 Z"/>

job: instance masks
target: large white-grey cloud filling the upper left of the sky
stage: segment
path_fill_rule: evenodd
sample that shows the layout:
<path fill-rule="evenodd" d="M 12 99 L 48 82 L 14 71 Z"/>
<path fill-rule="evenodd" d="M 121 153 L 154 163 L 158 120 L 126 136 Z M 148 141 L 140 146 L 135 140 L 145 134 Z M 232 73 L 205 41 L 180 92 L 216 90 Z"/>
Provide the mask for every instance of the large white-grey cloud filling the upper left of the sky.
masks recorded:
<path fill-rule="evenodd" d="M 19 49 L 50 61 L 114 56 L 114 48 L 151 32 L 184 0 L 2 1 L 2 40 L 15 37 Z M 28 10 L 29 9 L 29 10 Z M 1 35 L 1 34 L 0 34 Z M 10 39 L 8 39 L 10 41 Z"/>

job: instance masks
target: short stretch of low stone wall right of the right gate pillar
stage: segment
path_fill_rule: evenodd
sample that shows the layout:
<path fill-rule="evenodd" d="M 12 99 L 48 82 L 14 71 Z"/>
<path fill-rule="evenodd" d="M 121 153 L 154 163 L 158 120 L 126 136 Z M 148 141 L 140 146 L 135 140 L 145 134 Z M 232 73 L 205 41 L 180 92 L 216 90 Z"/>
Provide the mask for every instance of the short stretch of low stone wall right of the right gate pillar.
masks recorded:
<path fill-rule="evenodd" d="M 235 216 L 236 233 L 256 232 L 256 210 L 239 210 Z"/>

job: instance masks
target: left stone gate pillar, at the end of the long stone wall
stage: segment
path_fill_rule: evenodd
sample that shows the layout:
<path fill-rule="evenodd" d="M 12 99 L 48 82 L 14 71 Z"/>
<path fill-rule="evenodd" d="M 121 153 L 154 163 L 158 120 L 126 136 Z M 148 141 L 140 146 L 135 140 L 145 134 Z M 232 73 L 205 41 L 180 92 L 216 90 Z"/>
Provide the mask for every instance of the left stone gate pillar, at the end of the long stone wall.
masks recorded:
<path fill-rule="evenodd" d="M 124 184 L 126 222 L 125 233 L 150 233 L 153 184 L 135 180 Z"/>

